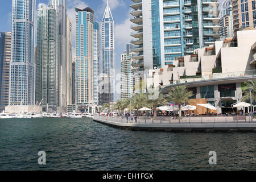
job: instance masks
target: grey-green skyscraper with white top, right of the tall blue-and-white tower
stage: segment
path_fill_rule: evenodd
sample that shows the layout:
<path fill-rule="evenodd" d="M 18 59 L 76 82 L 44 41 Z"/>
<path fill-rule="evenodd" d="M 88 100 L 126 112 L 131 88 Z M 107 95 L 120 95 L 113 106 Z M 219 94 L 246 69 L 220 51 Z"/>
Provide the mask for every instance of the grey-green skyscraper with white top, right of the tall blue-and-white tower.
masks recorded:
<path fill-rule="evenodd" d="M 39 4 L 36 44 L 36 102 L 59 106 L 59 22 L 56 10 Z"/>

